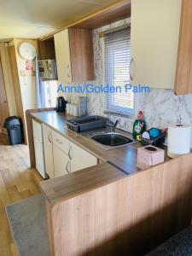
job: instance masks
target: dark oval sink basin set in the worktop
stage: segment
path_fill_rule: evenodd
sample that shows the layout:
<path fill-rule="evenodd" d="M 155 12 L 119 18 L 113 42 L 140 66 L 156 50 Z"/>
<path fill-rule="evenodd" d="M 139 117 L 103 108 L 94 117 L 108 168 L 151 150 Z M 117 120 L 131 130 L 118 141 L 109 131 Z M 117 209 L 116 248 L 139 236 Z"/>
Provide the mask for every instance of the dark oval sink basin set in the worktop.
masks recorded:
<path fill-rule="evenodd" d="M 122 136 L 117 133 L 106 133 L 106 134 L 100 134 L 91 137 L 92 140 L 94 140 L 96 143 L 100 143 L 102 145 L 106 146 L 120 146 L 128 143 L 132 143 L 133 140 L 131 138 Z"/>

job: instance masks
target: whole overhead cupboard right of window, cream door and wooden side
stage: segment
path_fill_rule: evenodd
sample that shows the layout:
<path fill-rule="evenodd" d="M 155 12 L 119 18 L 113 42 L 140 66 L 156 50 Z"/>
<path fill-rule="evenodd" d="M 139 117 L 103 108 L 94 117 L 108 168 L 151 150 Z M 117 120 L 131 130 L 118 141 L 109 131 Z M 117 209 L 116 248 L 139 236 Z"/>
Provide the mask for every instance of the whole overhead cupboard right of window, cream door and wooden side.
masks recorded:
<path fill-rule="evenodd" d="M 131 1 L 131 84 L 192 93 L 192 0 Z"/>

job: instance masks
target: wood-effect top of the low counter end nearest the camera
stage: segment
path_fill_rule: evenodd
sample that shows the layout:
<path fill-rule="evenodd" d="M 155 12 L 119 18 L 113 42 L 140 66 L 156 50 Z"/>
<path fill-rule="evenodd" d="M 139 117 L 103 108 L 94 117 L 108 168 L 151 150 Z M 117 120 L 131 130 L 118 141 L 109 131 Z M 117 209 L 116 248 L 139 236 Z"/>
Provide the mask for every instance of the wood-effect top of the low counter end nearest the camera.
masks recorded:
<path fill-rule="evenodd" d="M 78 172 L 52 178 L 41 183 L 41 190 L 51 206 L 67 201 L 93 189 L 126 177 L 117 168 L 108 163 L 91 166 Z"/>

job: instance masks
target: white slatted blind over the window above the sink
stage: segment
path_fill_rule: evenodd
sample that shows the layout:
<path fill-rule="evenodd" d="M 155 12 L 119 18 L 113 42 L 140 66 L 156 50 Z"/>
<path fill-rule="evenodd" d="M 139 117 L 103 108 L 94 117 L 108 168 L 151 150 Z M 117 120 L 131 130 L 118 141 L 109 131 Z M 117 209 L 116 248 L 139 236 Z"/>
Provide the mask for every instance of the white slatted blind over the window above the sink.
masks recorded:
<path fill-rule="evenodd" d="M 129 26 L 104 34 L 104 84 L 117 88 L 115 92 L 104 94 L 105 113 L 126 116 L 133 113 L 133 92 L 125 91 L 125 84 L 130 83 L 130 44 Z"/>

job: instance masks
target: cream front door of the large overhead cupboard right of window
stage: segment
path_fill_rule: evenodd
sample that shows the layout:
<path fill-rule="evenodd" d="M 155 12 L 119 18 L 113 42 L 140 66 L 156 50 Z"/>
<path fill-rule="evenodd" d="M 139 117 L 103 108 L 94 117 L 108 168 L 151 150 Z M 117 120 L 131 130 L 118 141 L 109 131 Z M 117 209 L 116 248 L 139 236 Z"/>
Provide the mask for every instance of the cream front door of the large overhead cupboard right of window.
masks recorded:
<path fill-rule="evenodd" d="M 174 88 L 181 3 L 131 1 L 131 84 Z"/>

